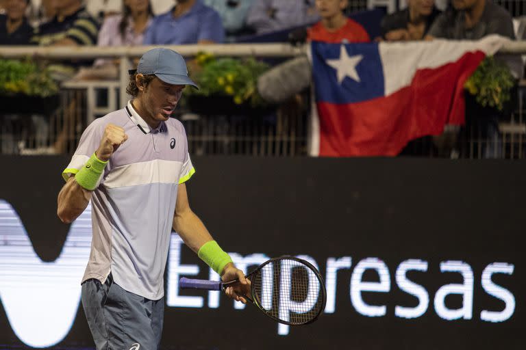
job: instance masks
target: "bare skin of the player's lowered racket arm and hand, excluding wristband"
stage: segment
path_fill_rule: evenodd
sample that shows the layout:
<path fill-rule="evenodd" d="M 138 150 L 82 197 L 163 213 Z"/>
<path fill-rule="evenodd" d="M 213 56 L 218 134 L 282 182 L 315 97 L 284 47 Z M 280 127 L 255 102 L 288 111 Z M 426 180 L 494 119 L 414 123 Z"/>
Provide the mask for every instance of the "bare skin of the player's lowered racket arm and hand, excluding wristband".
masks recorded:
<path fill-rule="evenodd" d="M 175 204 L 175 214 L 173 215 L 173 230 L 179 234 L 179 237 L 194 252 L 199 252 L 199 248 L 208 241 L 212 241 L 212 235 L 208 232 L 197 215 L 190 208 L 188 203 L 188 193 L 186 184 L 182 183 L 177 189 L 177 202 Z M 227 295 L 237 301 L 246 303 L 247 300 L 239 295 L 250 293 L 250 288 L 245 280 L 245 275 L 240 269 L 237 269 L 231 262 L 225 266 L 221 273 L 221 280 L 231 281 L 239 279 L 240 285 L 229 287 L 225 291 Z"/>

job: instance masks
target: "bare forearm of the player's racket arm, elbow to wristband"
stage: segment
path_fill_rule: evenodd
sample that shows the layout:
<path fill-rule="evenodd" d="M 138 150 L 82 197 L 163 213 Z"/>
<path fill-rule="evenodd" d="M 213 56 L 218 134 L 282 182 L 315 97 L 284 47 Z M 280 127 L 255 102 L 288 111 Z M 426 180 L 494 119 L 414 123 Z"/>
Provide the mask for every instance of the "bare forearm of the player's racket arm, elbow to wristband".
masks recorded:
<path fill-rule="evenodd" d="M 173 230 L 196 253 L 203 244 L 212 241 L 212 236 L 203 221 L 190 209 L 173 217 Z"/>

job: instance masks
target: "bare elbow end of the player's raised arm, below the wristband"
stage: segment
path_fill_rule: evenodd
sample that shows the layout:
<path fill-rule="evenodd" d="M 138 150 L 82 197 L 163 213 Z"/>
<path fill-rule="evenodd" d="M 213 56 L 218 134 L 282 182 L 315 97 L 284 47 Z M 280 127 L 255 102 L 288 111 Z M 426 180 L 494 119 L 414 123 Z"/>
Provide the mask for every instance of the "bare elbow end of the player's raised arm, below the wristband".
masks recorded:
<path fill-rule="evenodd" d="M 75 177 L 71 176 L 68 182 L 58 193 L 57 215 L 64 224 L 70 224 L 77 219 L 90 202 L 91 191 L 80 186 Z"/>

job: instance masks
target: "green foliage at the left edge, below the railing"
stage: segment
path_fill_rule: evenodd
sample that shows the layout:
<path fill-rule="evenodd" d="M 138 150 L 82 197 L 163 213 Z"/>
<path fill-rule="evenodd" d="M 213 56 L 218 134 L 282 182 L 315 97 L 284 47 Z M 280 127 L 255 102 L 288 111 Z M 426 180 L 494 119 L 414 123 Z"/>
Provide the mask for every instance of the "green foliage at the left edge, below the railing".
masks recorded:
<path fill-rule="evenodd" d="M 47 68 L 26 59 L 0 59 L 0 95 L 25 94 L 48 97 L 58 94 L 58 85 Z"/>

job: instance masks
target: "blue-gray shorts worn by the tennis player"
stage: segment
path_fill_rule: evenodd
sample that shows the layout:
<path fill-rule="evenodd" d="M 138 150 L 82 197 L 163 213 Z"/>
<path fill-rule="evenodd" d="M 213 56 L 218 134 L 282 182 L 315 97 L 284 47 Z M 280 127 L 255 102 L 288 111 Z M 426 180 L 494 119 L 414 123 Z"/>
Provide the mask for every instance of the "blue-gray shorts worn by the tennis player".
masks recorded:
<path fill-rule="evenodd" d="M 164 298 L 150 300 L 125 291 L 113 282 L 87 280 L 82 306 L 97 350 L 159 349 Z"/>

